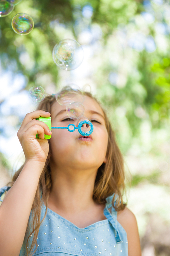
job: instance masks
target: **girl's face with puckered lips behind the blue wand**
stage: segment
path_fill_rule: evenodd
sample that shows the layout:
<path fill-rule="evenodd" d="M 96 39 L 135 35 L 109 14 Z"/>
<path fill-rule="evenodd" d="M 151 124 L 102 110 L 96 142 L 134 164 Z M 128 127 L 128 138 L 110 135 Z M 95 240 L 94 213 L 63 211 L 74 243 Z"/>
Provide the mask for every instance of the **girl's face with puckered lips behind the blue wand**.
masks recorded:
<path fill-rule="evenodd" d="M 82 137 L 77 129 L 74 132 L 67 129 L 52 129 L 50 148 L 54 168 L 98 169 L 106 162 L 108 133 L 103 110 L 88 96 L 85 96 L 83 105 L 84 116 L 92 122 L 94 131 L 90 136 Z M 77 127 L 86 119 L 70 119 L 66 114 L 66 106 L 55 102 L 51 108 L 51 120 L 52 126 L 67 127 L 72 123 Z"/>

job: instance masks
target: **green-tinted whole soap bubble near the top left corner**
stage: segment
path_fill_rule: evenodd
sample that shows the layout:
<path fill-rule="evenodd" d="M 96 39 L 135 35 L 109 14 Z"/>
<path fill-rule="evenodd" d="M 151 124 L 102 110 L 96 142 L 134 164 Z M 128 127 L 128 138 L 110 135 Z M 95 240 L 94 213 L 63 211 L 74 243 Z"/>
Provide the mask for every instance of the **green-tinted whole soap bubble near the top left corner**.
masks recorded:
<path fill-rule="evenodd" d="M 18 13 L 12 19 L 12 28 L 19 35 L 27 35 L 34 28 L 34 21 L 26 13 Z"/>

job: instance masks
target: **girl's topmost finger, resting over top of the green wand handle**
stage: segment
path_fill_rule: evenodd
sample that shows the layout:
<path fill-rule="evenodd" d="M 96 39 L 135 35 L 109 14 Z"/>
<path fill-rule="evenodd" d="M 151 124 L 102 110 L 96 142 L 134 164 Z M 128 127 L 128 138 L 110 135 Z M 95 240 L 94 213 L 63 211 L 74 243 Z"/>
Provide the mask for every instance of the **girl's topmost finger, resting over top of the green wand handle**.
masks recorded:
<path fill-rule="evenodd" d="M 20 129 L 22 130 L 23 127 L 26 126 L 26 124 L 31 122 L 33 119 L 37 119 L 39 117 L 50 117 L 50 115 L 51 114 L 49 112 L 46 112 L 44 110 L 36 110 L 36 111 L 31 112 L 31 113 L 28 113 L 24 117 Z"/>

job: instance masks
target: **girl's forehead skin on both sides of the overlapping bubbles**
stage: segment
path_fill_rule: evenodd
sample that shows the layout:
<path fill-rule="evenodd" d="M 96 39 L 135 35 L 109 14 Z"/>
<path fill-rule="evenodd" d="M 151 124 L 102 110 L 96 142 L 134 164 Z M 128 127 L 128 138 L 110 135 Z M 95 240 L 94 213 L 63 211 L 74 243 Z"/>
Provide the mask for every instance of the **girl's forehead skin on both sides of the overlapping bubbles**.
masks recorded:
<path fill-rule="evenodd" d="M 85 111 L 90 111 L 90 110 L 94 110 L 99 112 L 100 114 L 104 115 L 102 108 L 100 107 L 100 105 L 96 102 L 95 99 L 92 99 L 89 96 L 85 96 L 84 102 L 82 103 Z M 54 102 L 52 107 L 51 107 L 51 115 L 56 115 L 59 111 L 66 109 L 66 106 L 62 106 L 60 104 L 58 104 L 58 102 Z"/>

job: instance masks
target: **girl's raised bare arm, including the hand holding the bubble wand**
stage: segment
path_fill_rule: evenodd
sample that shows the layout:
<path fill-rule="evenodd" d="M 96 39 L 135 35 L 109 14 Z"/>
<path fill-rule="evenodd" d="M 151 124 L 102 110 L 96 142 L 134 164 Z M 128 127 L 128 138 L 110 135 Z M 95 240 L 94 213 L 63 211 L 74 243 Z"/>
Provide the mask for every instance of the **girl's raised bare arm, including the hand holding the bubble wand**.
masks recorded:
<path fill-rule="evenodd" d="M 18 256 L 20 253 L 39 177 L 48 155 L 47 139 L 36 139 L 36 134 L 41 138 L 44 138 L 44 133 L 51 135 L 48 126 L 34 118 L 49 115 L 41 110 L 27 114 L 18 131 L 26 162 L 0 206 L 1 256 Z"/>

